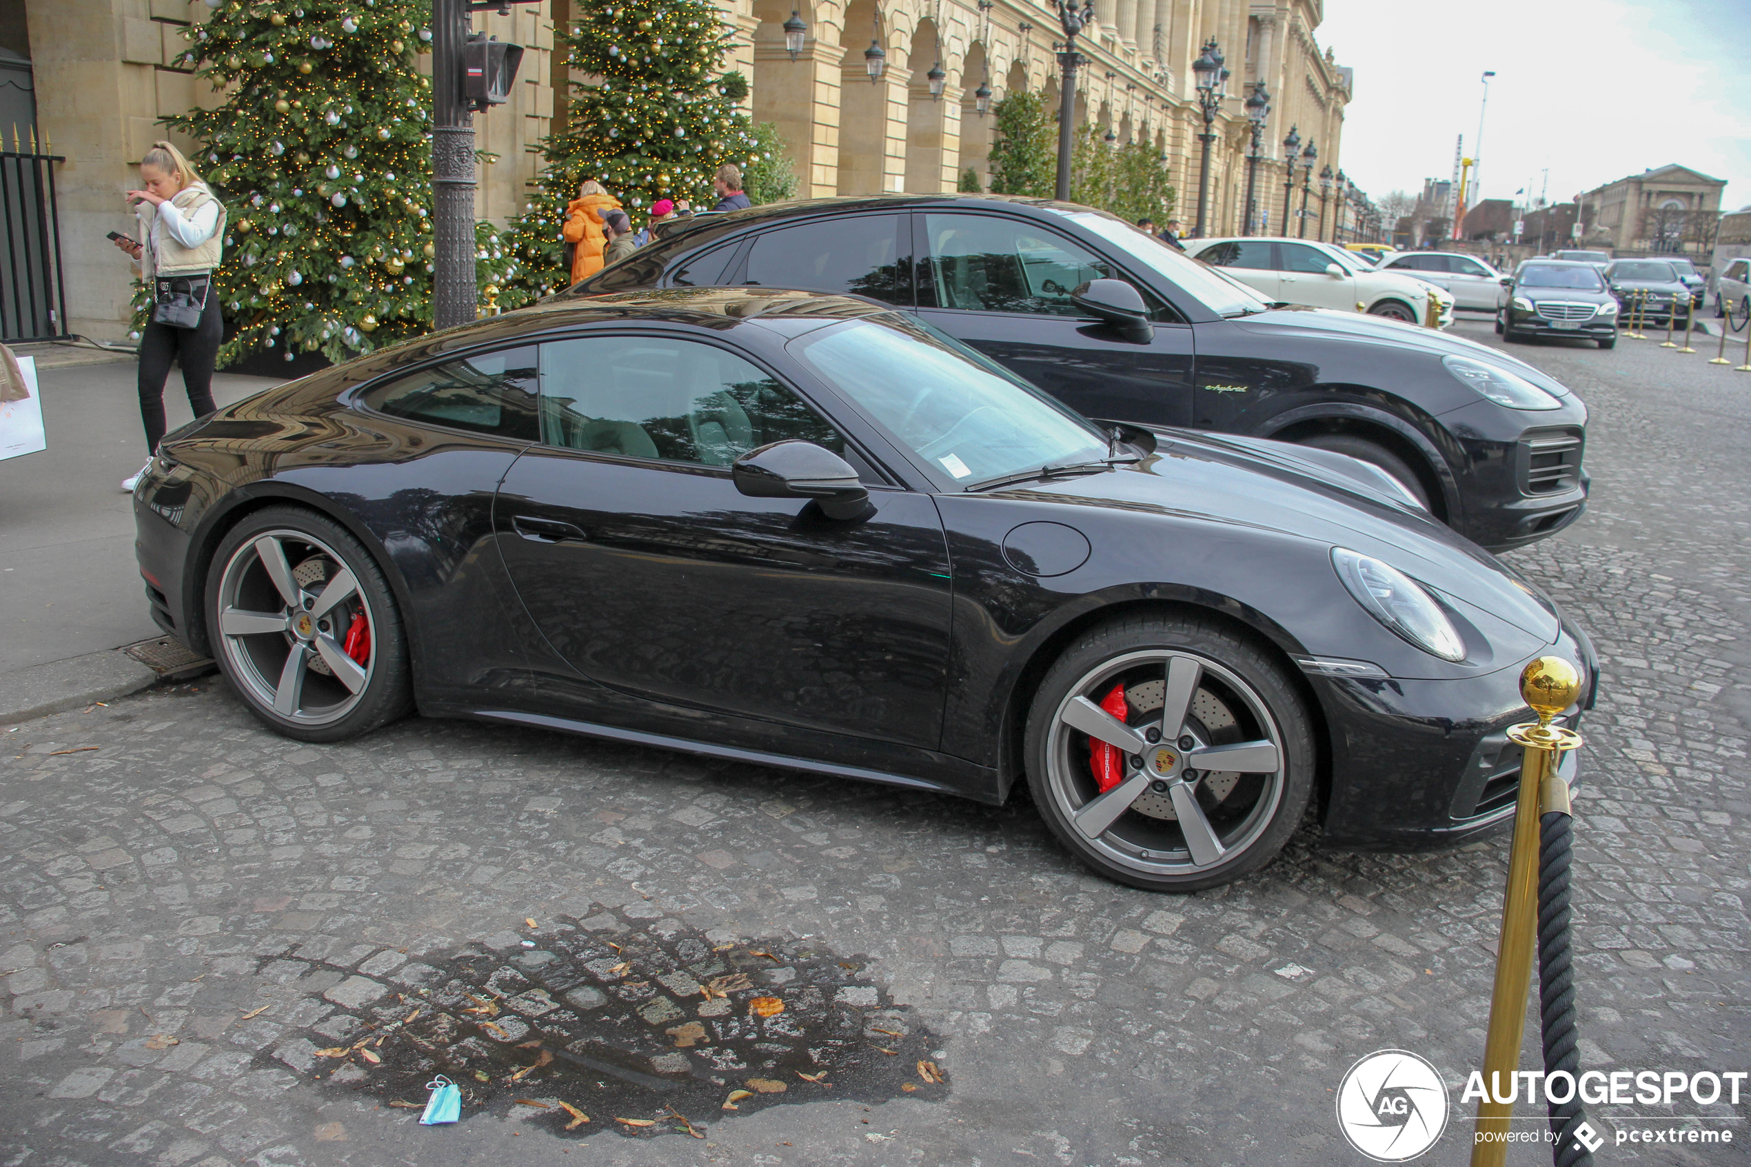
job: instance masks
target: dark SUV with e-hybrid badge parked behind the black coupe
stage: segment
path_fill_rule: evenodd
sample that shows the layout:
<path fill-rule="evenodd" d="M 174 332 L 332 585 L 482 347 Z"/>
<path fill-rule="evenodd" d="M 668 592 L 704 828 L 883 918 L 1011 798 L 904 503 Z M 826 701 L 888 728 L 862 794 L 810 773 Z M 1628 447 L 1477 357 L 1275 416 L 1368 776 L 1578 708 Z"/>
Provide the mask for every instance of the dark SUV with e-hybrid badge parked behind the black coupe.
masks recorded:
<path fill-rule="evenodd" d="M 1119 278 L 1142 327 L 1072 292 Z M 1392 474 L 1501 551 L 1586 506 L 1586 406 L 1499 350 L 1418 324 L 1273 303 L 1103 212 L 893 194 L 681 220 L 566 292 L 790 287 L 916 313 L 1091 418 L 1275 437 Z M 1287 299 L 1287 297 L 1283 297 Z"/>

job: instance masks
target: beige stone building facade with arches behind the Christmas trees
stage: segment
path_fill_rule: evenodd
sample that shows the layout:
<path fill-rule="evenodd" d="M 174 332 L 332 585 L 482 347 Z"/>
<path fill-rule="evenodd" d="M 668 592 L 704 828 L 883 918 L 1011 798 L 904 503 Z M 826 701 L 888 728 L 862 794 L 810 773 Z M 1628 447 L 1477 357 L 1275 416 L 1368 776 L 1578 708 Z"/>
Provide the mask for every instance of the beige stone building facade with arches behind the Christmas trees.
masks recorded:
<path fill-rule="evenodd" d="M 564 124 L 567 82 L 585 80 L 552 52 L 555 28 L 583 2 L 541 0 L 510 16 L 475 17 L 476 28 L 527 47 L 511 101 L 475 119 L 478 145 L 497 156 L 482 168 L 482 219 L 503 224 L 524 206 L 539 166 L 536 143 Z M 716 2 L 734 30 L 725 66 L 748 77 L 749 114 L 777 124 L 805 198 L 954 191 L 967 168 L 984 180 L 993 119 L 977 112 L 979 86 L 993 101 L 1016 89 L 1040 91 L 1054 107 L 1059 98 L 1056 9 L 1033 0 Z M 201 0 L 9 0 L 5 7 L 14 5 L 23 19 L 0 21 L 0 49 L 30 61 L 39 138 L 67 159 L 56 164 L 56 182 L 68 331 L 114 339 L 128 318 L 130 282 L 103 234 L 131 222 L 121 196 L 135 182 L 131 166 L 166 136 L 158 119 L 214 100 L 175 63 L 184 47 L 179 30 L 208 9 Z M 793 10 L 807 24 L 795 59 L 783 33 Z M 1086 65 L 1077 117 L 1112 129 L 1119 142 L 1152 142 L 1187 224 L 1196 219 L 1203 129 L 1191 65 L 1212 37 L 1231 77 L 1213 126 L 1210 233 L 1243 226 L 1241 101 L 1255 80 L 1271 98 L 1257 164 L 1257 203 L 1271 210 L 1269 229 L 1280 229 L 1278 159 L 1290 126 L 1303 143 L 1317 143 L 1322 166 L 1341 170 L 1354 79 L 1315 42 L 1322 0 L 1098 0 L 1094 10 L 1096 23 L 1079 37 Z M 863 58 L 872 44 L 886 52 L 876 82 Z M 940 98 L 928 87 L 932 66 L 946 73 Z"/>

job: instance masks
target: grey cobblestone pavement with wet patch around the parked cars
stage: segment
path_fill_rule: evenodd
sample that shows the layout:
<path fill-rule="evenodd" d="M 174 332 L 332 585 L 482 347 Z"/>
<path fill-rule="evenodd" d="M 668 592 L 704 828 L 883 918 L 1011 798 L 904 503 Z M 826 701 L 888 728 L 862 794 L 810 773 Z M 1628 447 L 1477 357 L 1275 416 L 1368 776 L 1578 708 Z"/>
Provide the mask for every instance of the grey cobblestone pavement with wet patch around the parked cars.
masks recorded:
<path fill-rule="evenodd" d="M 1751 374 L 1632 341 L 1515 352 L 1593 409 L 1593 513 L 1515 555 L 1606 661 L 1583 1062 L 1751 1069 Z M 0 1164 L 1359 1164 L 1333 1118 L 1357 1057 L 1429 1057 L 1457 1109 L 1481 1059 L 1499 838 L 1371 856 L 1304 831 L 1173 898 L 1084 873 L 1024 801 L 455 721 L 306 747 L 217 679 L 0 740 Z M 756 999 L 786 1011 L 756 1022 Z M 390 1102 L 424 1101 L 424 1066 L 394 1052 L 462 1032 L 441 1066 L 466 1122 L 418 1127 Z M 709 1097 L 594 1087 L 601 1106 L 541 1062 L 616 1032 L 728 1062 Z M 769 1074 L 783 1094 L 720 1109 Z M 1602 1162 L 1742 1164 L 1746 1102 L 1702 1108 L 1732 1146 Z M 1455 1120 L 1420 1162 L 1467 1148 Z"/>

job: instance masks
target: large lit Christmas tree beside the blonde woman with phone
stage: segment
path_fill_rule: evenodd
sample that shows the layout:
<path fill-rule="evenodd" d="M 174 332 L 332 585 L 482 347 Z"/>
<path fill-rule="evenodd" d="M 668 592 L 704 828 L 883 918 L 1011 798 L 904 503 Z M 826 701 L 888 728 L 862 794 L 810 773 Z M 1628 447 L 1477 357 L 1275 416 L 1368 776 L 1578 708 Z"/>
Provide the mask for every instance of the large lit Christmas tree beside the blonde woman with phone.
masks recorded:
<path fill-rule="evenodd" d="M 221 364 L 345 360 L 431 329 L 429 17 L 429 0 L 221 0 L 184 30 L 184 63 L 226 94 L 165 119 L 201 142 L 189 161 L 229 213 Z M 476 240 L 480 282 L 503 282 L 497 233 Z"/>

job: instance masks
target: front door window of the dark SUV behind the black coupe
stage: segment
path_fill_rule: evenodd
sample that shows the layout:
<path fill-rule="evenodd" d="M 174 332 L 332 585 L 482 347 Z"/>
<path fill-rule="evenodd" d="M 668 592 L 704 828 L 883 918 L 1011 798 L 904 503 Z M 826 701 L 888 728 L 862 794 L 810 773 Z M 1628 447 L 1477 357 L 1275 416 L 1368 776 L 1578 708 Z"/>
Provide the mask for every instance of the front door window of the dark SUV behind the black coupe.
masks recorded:
<path fill-rule="evenodd" d="M 1019 219 L 925 215 L 925 234 L 940 308 L 1080 317 L 1070 292 L 1115 275 L 1093 252 Z"/>

